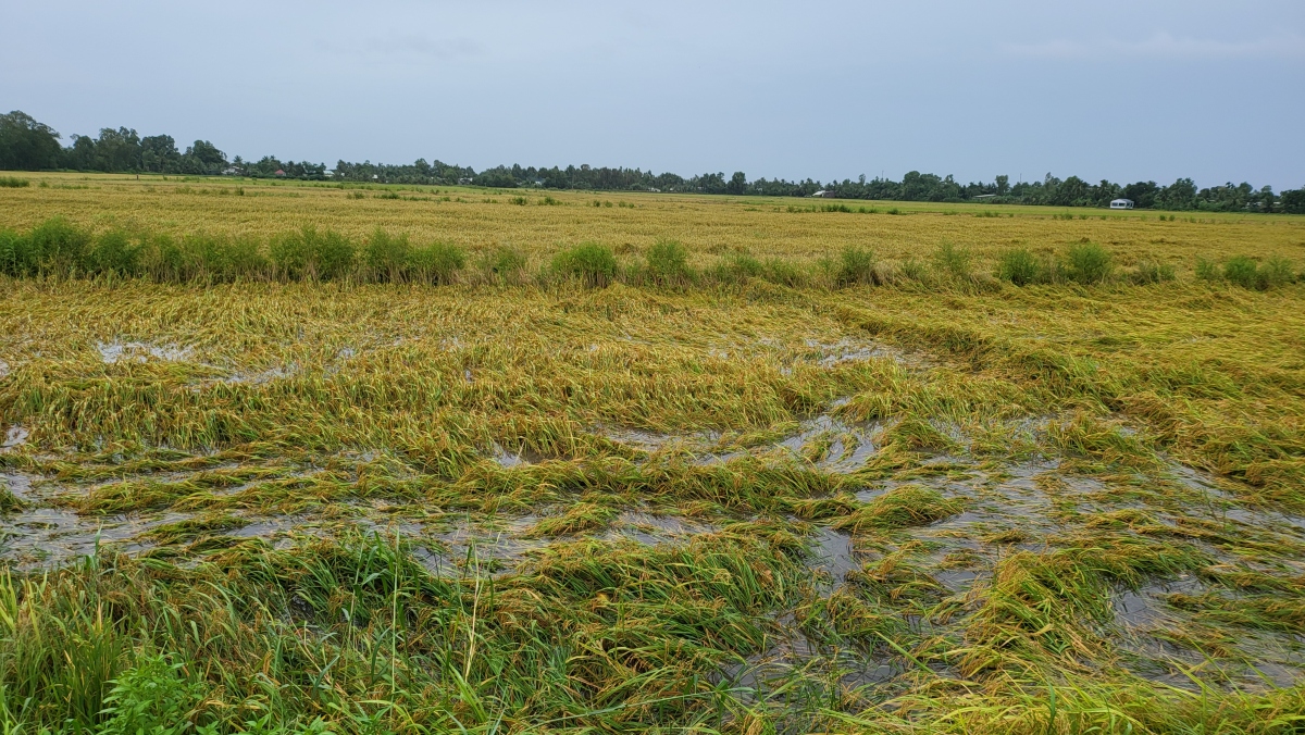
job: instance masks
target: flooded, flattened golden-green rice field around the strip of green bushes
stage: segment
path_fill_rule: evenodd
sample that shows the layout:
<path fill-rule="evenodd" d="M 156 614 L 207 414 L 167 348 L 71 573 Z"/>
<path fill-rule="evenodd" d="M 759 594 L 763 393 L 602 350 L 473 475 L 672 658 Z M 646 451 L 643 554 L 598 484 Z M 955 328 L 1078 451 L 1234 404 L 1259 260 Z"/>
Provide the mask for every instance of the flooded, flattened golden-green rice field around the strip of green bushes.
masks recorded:
<path fill-rule="evenodd" d="M 0 277 L 7 732 L 1305 727 L 1300 218 L 22 176 L 467 257 Z"/>

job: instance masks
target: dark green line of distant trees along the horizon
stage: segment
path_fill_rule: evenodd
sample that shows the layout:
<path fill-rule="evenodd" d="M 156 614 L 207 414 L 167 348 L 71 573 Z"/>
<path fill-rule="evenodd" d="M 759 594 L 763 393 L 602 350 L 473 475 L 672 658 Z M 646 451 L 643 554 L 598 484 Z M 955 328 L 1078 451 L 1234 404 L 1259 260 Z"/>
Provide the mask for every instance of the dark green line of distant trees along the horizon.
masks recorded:
<path fill-rule="evenodd" d="M 1305 187 L 1274 193 L 1271 187 L 1255 188 L 1248 183 L 1198 188 L 1191 179 L 1178 179 L 1169 185 L 1155 181 L 1116 184 L 1108 180 L 1092 184 L 1078 176 L 1058 179 L 1051 174 L 1043 180 L 1010 183 L 997 176 L 990 183 L 960 183 L 953 176 L 911 171 L 900 181 L 876 178 L 821 183 L 806 179 L 749 180 L 743 171 L 726 178 L 723 172 L 684 178 L 677 174 L 654 174 L 639 168 L 591 167 L 589 164 L 522 167 L 495 166 L 482 171 L 419 158 L 414 163 L 350 163 L 338 161 L 334 170 L 325 163 L 281 161 L 265 155 L 244 161 L 209 141 L 197 140 L 184 151 L 172 136 L 140 136 L 132 128 L 102 128 L 99 136 L 73 134 L 69 145 L 50 125 L 30 115 L 13 111 L 0 115 L 0 170 L 12 171 L 103 171 L 181 175 L 239 175 L 251 178 L 288 178 L 304 180 L 376 181 L 386 184 L 482 185 L 493 188 L 545 188 L 585 191 L 649 191 L 694 192 L 735 196 L 809 197 L 818 192 L 838 198 L 964 202 L 1028 204 L 1048 206 L 1107 206 L 1114 198 L 1128 198 L 1138 209 L 1253 211 L 1305 214 Z"/>

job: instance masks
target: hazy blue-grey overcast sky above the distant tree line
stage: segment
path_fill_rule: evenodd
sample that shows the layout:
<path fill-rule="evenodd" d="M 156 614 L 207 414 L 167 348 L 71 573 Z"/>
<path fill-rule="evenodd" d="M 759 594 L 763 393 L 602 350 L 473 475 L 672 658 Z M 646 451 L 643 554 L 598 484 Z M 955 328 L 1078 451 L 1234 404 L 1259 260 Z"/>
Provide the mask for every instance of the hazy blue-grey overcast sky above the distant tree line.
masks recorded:
<path fill-rule="evenodd" d="M 228 155 L 1305 185 L 1305 3 L 0 0 L 0 107 Z"/>

